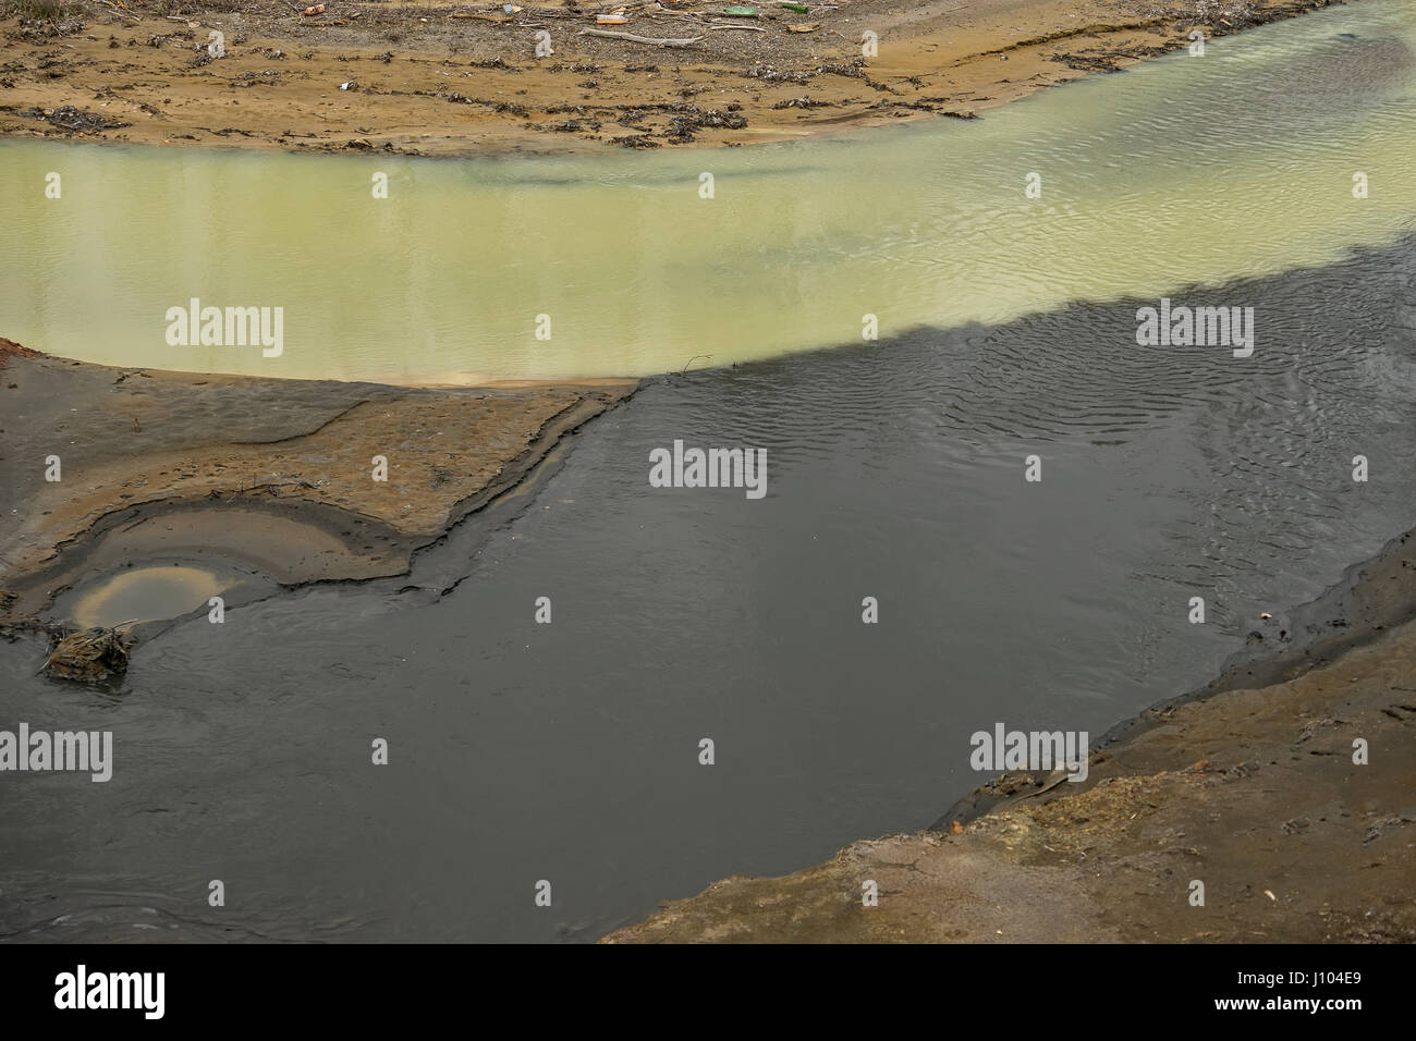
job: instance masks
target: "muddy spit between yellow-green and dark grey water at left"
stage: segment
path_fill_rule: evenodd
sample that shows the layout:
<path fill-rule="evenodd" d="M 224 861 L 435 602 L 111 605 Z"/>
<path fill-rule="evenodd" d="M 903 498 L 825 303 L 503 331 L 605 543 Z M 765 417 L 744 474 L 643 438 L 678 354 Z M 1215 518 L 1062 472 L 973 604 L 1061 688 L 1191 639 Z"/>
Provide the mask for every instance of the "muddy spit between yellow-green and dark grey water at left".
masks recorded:
<path fill-rule="evenodd" d="M 636 385 L 215 377 L 75 363 L 8 340 L 0 363 L 8 619 L 154 557 L 218 558 L 282 585 L 402 574 L 416 548 Z"/>

